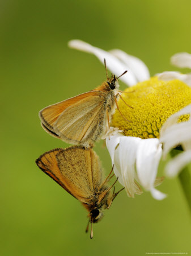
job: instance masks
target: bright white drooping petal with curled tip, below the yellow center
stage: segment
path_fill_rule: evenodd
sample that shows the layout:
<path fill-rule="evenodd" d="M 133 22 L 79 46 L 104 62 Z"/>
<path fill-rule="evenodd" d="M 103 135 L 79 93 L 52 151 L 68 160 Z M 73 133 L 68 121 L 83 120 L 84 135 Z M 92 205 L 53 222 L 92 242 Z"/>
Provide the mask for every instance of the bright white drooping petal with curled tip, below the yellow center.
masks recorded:
<path fill-rule="evenodd" d="M 162 156 L 162 144 L 158 139 L 142 139 L 137 151 L 137 174 L 141 185 L 151 191 L 155 199 L 161 200 L 164 193 L 154 189 L 158 165 Z M 156 192 L 157 191 L 157 192 Z"/>

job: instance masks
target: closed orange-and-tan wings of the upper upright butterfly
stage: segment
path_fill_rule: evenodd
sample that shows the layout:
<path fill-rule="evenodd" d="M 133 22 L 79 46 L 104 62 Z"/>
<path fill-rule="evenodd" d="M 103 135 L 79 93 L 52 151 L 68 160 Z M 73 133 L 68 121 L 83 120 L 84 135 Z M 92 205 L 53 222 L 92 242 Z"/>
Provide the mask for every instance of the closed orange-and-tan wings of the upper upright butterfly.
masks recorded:
<path fill-rule="evenodd" d="M 92 90 L 48 106 L 40 112 L 44 129 L 68 143 L 96 141 L 103 131 L 106 97 L 107 92 Z"/>

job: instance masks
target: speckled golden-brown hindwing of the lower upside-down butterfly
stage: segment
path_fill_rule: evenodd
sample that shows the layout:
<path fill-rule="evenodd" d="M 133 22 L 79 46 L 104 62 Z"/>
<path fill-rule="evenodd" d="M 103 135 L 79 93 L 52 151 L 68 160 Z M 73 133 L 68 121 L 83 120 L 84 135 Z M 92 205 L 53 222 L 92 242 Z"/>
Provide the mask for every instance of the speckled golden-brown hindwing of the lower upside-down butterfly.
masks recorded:
<path fill-rule="evenodd" d="M 62 174 L 71 180 L 76 188 L 83 191 L 84 197 L 90 198 L 94 195 L 94 183 L 97 184 L 95 172 L 100 172 L 100 168 L 99 158 L 91 148 L 65 148 L 57 154 L 57 161 Z"/>

